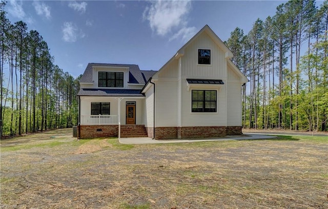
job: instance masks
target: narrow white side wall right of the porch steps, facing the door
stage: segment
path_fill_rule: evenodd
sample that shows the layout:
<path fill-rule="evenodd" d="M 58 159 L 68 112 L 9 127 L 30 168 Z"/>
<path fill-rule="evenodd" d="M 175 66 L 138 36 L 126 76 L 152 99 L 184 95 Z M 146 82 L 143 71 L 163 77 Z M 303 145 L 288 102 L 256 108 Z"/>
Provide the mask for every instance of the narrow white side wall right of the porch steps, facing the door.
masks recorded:
<path fill-rule="evenodd" d="M 144 99 L 144 124 L 145 127 L 154 127 L 154 88 L 151 86 L 145 93 Z"/>

